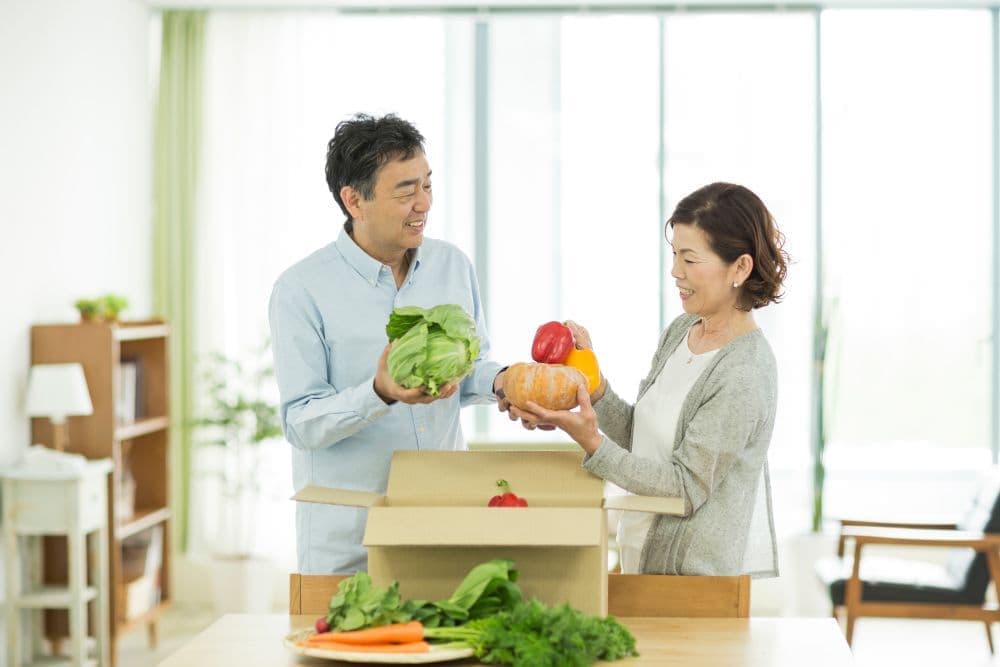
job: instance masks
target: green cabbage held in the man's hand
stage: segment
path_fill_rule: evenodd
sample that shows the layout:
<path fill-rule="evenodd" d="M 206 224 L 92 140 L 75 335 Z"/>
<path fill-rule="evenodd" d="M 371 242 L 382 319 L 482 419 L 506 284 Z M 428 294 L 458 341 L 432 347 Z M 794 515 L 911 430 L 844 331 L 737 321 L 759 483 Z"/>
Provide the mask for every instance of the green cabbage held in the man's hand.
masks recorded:
<path fill-rule="evenodd" d="M 385 332 L 393 344 L 389 375 L 404 387 L 424 387 L 431 396 L 471 373 L 479 356 L 476 321 L 455 304 L 396 308 Z"/>

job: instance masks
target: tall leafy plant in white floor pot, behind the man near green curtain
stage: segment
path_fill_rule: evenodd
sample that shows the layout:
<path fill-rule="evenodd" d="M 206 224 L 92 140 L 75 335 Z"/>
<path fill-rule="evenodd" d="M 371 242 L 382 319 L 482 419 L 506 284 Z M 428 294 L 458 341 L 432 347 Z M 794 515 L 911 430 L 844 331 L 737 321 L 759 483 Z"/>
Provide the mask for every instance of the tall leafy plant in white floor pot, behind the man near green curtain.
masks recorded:
<path fill-rule="evenodd" d="M 271 567 L 254 553 L 260 450 L 263 443 L 281 435 L 281 424 L 277 406 L 267 399 L 274 371 L 264 356 L 246 363 L 215 353 L 202 369 L 205 401 L 193 426 L 199 433 L 199 449 L 213 454 L 206 457 L 212 465 L 198 470 L 202 478 L 213 478 L 211 487 L 217 490 L 216 521 L 210 532 L 220 612 L 269 610 Z"/>

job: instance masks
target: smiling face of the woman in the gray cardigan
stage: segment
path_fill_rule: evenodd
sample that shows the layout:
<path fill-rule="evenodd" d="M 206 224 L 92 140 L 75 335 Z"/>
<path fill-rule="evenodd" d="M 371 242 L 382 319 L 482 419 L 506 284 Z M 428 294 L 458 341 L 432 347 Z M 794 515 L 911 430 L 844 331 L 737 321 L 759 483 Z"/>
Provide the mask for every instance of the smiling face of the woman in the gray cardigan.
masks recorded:
<path fill-rule="evenodd" d="M 670 271 L 684 312 L 711 318 L 736 307 L 735 266 L 712 252 L 708 236 L 696 225 L 674 225 L 674 263 Z"/>

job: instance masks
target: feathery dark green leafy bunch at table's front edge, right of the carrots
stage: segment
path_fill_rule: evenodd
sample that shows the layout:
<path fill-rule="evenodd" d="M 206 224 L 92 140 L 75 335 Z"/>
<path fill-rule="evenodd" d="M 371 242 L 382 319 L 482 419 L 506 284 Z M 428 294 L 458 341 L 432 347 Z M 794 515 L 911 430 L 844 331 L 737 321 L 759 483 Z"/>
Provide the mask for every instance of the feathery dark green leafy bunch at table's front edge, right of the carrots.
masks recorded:
<path fill-rule="evenodd" d="M 598 660 L 639 655 L 635 637 L 612 617 L 587 616 L 567 604 L 546 607 L 538 600 L 470 621 L 456 628 L 424 630 L 447 646 L 470 646 L 493 665 L 576 667 Z"/>

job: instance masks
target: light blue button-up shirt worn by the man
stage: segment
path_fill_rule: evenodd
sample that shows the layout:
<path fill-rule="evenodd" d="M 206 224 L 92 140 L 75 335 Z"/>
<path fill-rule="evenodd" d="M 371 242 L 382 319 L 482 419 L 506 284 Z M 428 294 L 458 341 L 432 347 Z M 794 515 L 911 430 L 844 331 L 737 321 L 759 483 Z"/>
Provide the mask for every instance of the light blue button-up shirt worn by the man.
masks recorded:
<path fill-rule="evenodd" d="M 375 368 L 398 306 L 455 303 L 476 320 L 479 359 L 460 390 L 427 405 L 386 405 Z M 292 445 L 292 482 L 385 493 L 397 449 L 464 449 L 459 408 L 496 400 L 500 365 L 489 354 L 475 269 L 461 250 L 425 238 L 400 288 L 392 269 L 341 230 L 334 243 L 285 271 L 270 303 L 281 421 Z M 366 510 L 298 503 L 296 534 L 303 574 L 367 568 L 361 540 Z"/>

